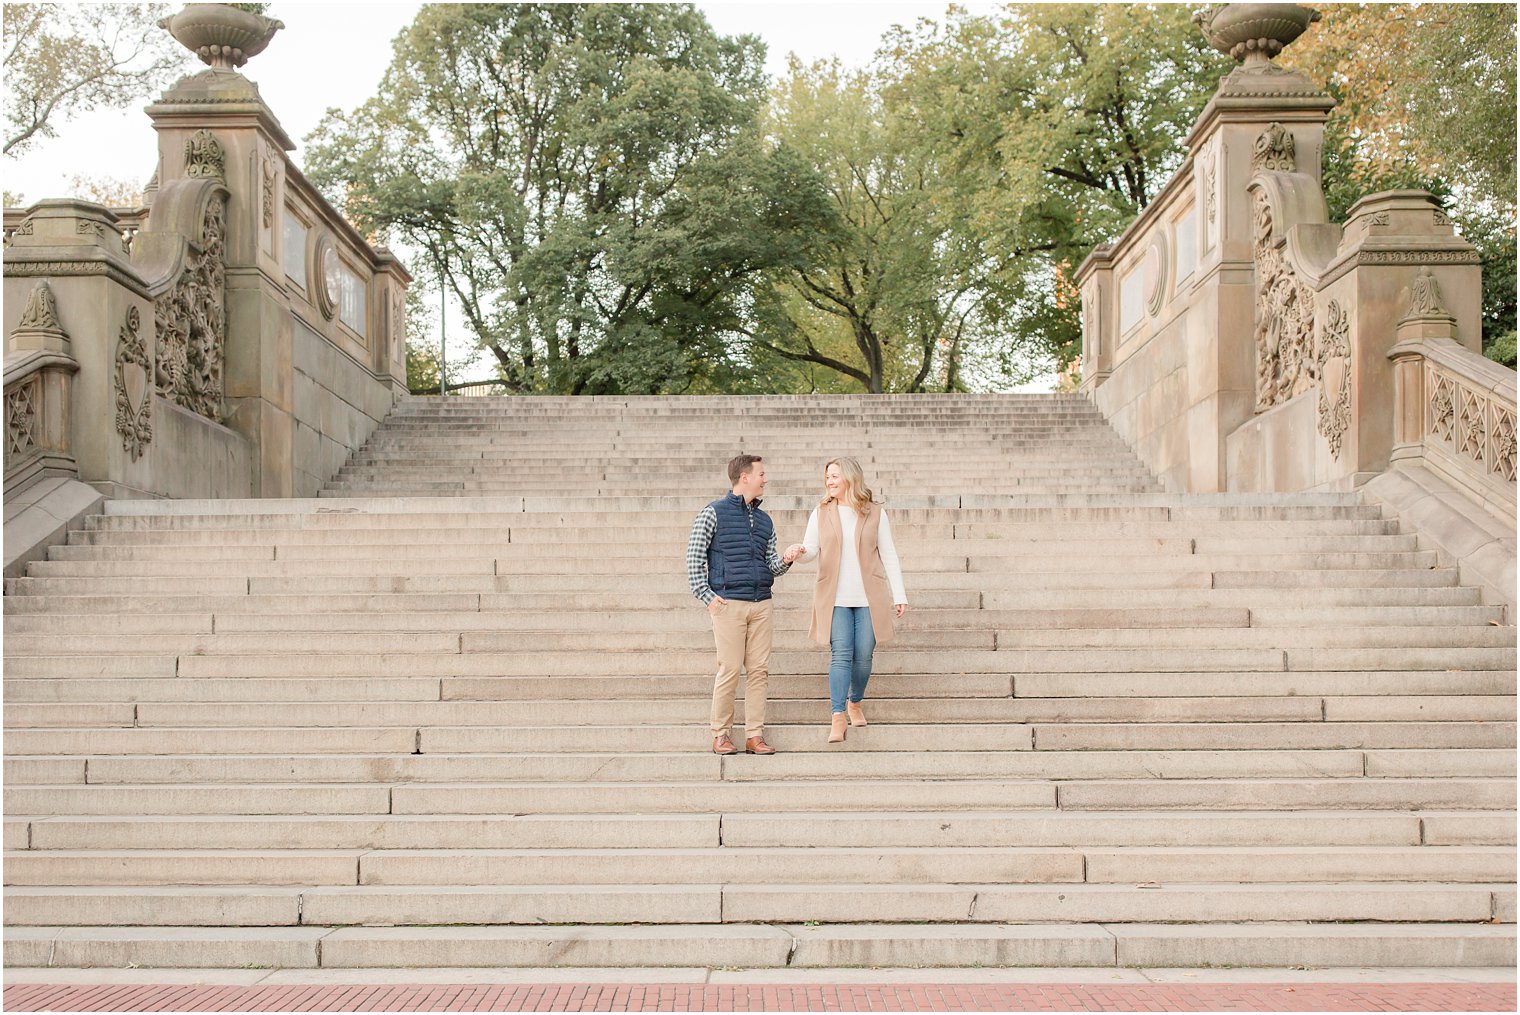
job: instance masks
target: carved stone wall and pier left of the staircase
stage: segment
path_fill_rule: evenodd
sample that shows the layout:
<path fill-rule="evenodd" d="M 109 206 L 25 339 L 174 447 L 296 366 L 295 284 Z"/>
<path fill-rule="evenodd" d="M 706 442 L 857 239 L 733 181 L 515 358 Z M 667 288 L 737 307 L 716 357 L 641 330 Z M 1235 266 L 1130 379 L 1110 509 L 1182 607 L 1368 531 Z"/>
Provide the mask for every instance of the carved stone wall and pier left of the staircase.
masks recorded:
<path fill-rule="evenodd" d="M 410 275 L 301 175 L 257 85 L 213 67 L 147 114 L 143 208 L 5 213 L 8 573 L 27 483 L 312 495 L 406 394 Z"/>

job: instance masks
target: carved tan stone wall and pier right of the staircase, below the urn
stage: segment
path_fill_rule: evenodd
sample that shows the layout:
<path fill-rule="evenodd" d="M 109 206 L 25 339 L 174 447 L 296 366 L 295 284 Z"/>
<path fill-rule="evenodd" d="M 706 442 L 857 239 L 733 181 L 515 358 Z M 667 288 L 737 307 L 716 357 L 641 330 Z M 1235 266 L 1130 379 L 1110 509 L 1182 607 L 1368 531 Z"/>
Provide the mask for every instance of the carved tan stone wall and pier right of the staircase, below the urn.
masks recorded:
<path fill-rule="evenodd" d="M 1332 223 L 1333 102 L 1266 52 L 1221 82 L 1173 179 L 1076 274 L 1082 389 L 1169 489 L 1356 488 L 1392 460 L 1404 322 L 1480 349 L 1476 251 L 1423 191 Z"/>

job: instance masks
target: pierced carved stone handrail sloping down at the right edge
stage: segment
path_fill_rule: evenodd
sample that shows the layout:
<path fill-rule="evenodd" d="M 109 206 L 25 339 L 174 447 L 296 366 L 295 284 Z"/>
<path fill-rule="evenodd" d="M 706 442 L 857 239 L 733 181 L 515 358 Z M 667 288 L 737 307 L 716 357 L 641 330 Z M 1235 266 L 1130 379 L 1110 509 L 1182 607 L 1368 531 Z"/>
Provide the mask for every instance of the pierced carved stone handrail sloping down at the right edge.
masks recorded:
<path fill-rule="evenodd" d="M 1452 339 L 1395 345 L 1394 460 L 1423 465 L 1491 514 L 1515 518 L 1515 372 Z"/>

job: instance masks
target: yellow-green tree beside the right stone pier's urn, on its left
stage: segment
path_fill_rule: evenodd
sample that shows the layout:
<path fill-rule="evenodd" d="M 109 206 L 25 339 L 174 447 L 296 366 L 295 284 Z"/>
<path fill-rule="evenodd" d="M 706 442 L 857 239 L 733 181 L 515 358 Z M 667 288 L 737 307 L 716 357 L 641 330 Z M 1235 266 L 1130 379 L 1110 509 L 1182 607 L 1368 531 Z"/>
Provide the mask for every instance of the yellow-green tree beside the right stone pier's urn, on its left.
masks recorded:
<path fill-rule="evenodd" d="M 891 35 L 889 102 L 917 128 L 947 220 L 1012 257 L 1000 356 L 1081 346 L 1070 275 L 1181 164 L 1181 138 L 1228 61 L 1181 5 L 952 9 Z"/>

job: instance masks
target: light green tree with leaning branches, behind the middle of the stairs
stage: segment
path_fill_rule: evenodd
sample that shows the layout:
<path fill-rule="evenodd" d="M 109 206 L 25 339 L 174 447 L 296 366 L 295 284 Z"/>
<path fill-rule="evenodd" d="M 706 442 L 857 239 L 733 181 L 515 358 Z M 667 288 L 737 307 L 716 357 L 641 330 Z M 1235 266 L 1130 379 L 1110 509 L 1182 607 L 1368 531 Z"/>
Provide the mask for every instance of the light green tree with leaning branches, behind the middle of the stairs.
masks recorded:
<path fill-rule="evenodd" d="M 877 74 L 792 62 L 768 132 L 821 173 L 831 204 L 810 263 L 772 272 L 749 331 L 758 353 L 838 375 L 830 386 L 964 391 L 1023 380 L 990 351 L 1009 310 L 1009 254 L 945 214 L 933 153 Z M 816 371 L 809 375 L 818 387 Z"/>

